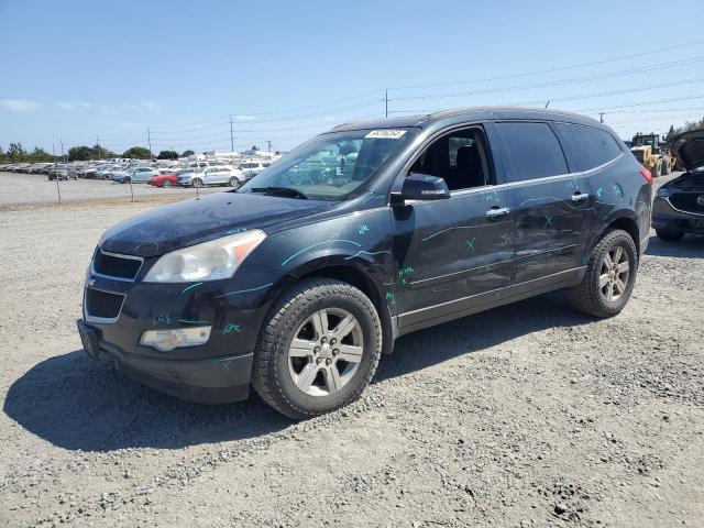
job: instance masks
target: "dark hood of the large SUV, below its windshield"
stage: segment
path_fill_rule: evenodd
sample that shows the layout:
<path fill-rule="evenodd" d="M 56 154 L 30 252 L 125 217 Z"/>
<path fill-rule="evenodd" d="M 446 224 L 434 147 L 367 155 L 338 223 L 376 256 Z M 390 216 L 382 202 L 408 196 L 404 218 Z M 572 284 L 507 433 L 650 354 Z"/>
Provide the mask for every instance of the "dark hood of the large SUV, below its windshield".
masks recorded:
<path fill-rule="evenodd" d="M 158 207 L 110 228 L 105 251 L 157 256 L 180 248 L 224 237 L 232 229 L 264 229 L 306 218 L 333 204 L 276 196 L 217 193 Z"/>

